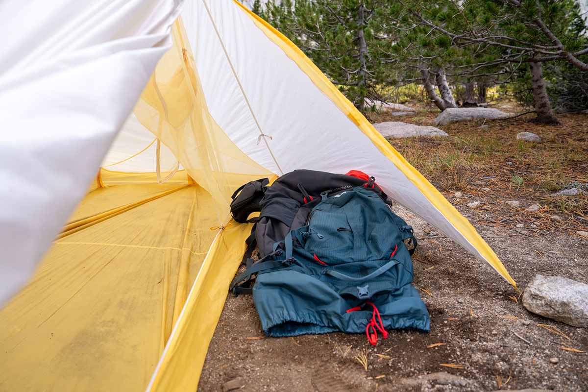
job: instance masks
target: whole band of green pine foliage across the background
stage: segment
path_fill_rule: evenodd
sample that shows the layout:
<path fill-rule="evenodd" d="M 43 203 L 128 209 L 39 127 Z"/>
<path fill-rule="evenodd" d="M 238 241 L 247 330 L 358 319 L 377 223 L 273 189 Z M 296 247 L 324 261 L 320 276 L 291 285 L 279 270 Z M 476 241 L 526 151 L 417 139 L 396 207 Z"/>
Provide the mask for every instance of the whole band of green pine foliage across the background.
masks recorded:
<path fill-rule="evenodd" d="M 552 98 L 580 94 L 583 82 L 567 81 L 588 74 L 575 0 L 276 0 L 261 16 L 363 112 L 372 109 L 365 98 L 421 82 L 422 69 L 444 72 L 460 91 L 466 83 L 507 83 L 502 91 L 527 102 L 531 60 L 543 62 Z"/>

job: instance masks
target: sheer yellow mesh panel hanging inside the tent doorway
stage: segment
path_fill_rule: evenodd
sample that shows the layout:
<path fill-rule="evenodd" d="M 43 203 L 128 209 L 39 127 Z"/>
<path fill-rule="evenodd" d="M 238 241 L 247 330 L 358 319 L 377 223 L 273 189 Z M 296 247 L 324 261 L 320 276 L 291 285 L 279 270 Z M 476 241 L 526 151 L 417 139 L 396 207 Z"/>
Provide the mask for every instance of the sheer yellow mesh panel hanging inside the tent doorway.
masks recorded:
<path fill-rule="evenodd" d="M 181 19 L 172 35 L 173 48 L 159 61 L 133 112 L 227 216 L 236 187 L 273 173 L 246 156 L 208 112 Z"/>

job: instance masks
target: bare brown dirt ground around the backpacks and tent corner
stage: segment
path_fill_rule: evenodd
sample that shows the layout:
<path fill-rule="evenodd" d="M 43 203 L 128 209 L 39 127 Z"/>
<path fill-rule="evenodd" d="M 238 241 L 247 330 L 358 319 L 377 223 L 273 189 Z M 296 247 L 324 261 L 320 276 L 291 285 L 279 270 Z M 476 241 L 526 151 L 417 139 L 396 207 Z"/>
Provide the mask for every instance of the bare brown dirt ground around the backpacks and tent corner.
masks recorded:
<path fill-rule="evenodd" d="M 482 191 L 487 186 L 473 183 L 462 197 L 445 195 L 521 290 L 537 273 L 588 283 L 588 239 L 570 226 L 553 230 L 560 223 L 544 213 L 524 212 L 536 202 L 528 194 L 517 199 L 519 208 L 505 207 L 512 198 L 489 195 Z M 474 201 L 482 207 L 467 207 Z M 430 236 L 435 229 L 406 209 L 396 205 L 395 212 L 419 239 L 413 284 L 429 310 L 430 333 L 390 330 L 376 347 L 365 334 L 266 338 L 251 297 L 228 294 L 198 390 L 588 390 L 588 329 L 529 313 L 520 293 L 486 263 L 445 236 Z M 574 219 L 573 229 L 588 231 L 582 222 Z"/>

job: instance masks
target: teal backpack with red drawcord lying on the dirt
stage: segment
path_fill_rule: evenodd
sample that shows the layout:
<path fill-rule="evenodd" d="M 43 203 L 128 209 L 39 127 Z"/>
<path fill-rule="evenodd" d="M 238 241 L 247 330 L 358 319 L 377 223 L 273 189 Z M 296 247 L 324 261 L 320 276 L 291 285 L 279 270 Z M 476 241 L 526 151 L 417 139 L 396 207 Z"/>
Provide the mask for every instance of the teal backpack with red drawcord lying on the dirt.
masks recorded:
<path fill-rule="evenodd" d="M 429 314 L 411 284 L 411 252 L 403 242 L 408 239 L 416 247 L 412 227 L 392 212 L 385 201 L 389 199 L 373 177 L 368 182 L 358 177 L 335 177 L 339 186 L 322 190 L 312 198 L 318 190 L 312 181 L 306 183 L 311 192 L 300 183 L 296 184 L 299 192 L 289 192 L 293 190 L 292 180 L 301 180 L 296 177 L 276 180 L 277 189 L 272 190 L 276 183 L 266 187 L 260 201 L 260 216 L 264 206 L 272 206 L 274 199 L 279 199 L 273 203 L 274 210 L 282 206 L 290 212 L 280 219 L 265 214 L 267 225 L 282 232 L 287 226 L 286 233 L 265 256 L 260 246 L 262 258 L 257 262 L 248 259 L 245 272 L 230 284 L 235 293 L 253 295 L 266 335 L 365 331 L 375 345 L 377 331 L 385 338 L 389 328 L 429 331 Z M 342 181 L 357 183 L 356 180 L 362 185 L 340 185 Z M 339 187 L 342 189 L 336 189 Z M 302 197 L 295 199 L 299 196 Z M 298 206 L 298 210 L 286 208 L 288 203 L 290 207 Z M 261 222 L 260 219 L 256 231 Z M 253 274 L 255 284 L 249 288 Z"/>

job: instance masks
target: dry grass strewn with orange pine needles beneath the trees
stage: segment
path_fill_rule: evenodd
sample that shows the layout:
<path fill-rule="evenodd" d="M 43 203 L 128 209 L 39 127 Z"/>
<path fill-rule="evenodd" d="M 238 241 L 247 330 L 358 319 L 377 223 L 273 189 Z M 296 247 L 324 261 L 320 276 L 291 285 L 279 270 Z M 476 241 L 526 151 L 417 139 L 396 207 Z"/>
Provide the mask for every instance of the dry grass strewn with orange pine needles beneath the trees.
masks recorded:
<path fill-rule="evenodd" d="M 417 112 L 399 119 L 382 113 L 376 120 L 432 125 L 437 114 Z M 445 195 L 467 192 L 483 202 L 483 209 L 509 218 L 506 222 L 497 222 L 503 219 L 500 217 L 479 223 L 534 223 L 539 229 L 573 235 L 576 230 L 586 231 L 588 195 L 551 194 L 571 181 L 588 183 L 588 116 L 560 114 L 560 126 L 539 125 L 532 118 L 457 122 L 439 127 L 449 138 L 391 139 L 390 143 Z M 480 129 L 481 125 L 487 128 Z M 522 131 L 537 133 L 545 142 L 516 140 Z M 530 215 L 524 209 L 500 206 L 498 200 L 526 200 L 524 207 L 537 203 L 542 209 Z M 554 215 L 562 218 L 557 225 L 550 218 Z"/>

